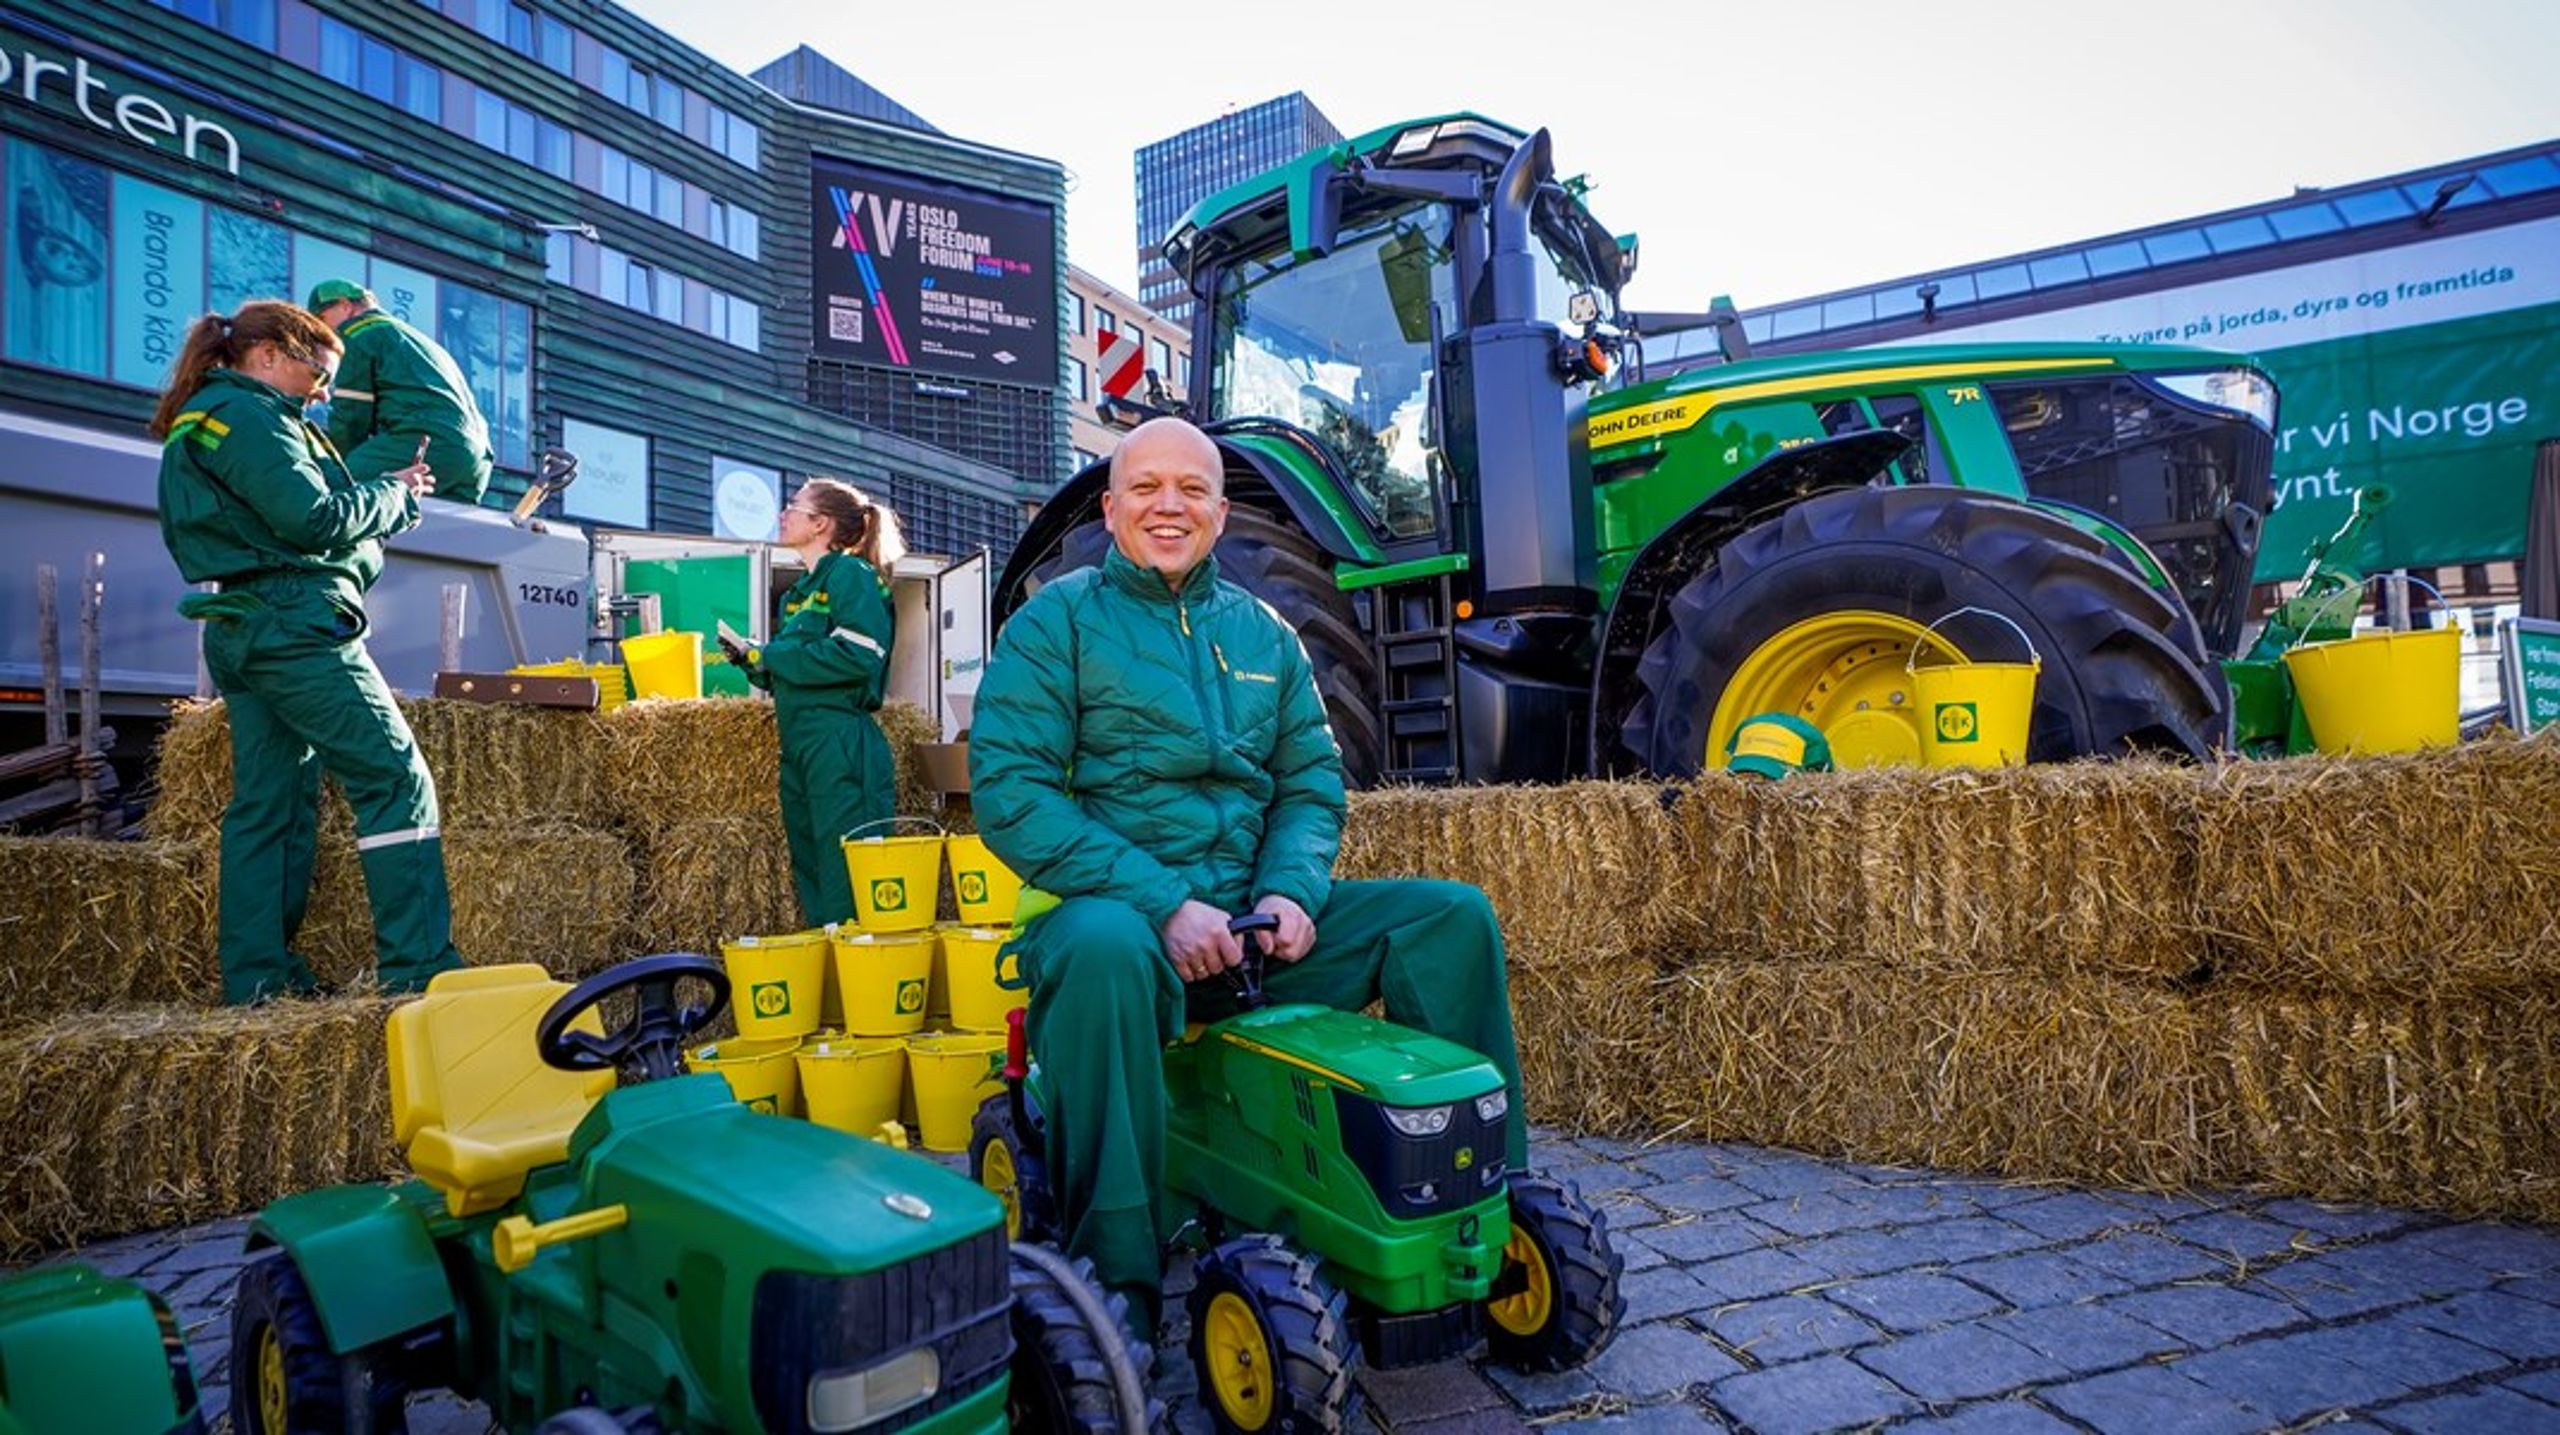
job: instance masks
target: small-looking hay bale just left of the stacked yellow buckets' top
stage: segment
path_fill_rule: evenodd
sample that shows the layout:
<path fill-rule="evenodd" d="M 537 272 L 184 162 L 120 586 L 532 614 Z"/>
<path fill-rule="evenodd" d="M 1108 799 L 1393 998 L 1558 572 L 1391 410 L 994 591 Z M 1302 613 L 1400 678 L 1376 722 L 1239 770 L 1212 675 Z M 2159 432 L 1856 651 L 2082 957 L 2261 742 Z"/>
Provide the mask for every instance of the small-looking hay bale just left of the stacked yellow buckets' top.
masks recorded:
<path fill-rule="evenodd" d="M 799 929 L 791 849 L 773 803 L 730 819 L 648 829 L 637 842 L 637 952 L 719 952 L 742 934 Z"/>

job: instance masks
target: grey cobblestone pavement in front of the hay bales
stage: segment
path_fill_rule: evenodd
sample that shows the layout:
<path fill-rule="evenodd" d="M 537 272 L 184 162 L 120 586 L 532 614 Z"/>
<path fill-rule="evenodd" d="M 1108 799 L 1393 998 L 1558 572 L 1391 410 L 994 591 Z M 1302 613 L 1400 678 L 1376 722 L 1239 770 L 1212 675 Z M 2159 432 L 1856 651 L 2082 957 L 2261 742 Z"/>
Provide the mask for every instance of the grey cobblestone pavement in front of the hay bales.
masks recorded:
<path fill-rule="evenodd" d="M 1372 1371 L 1382 1430 L 2560 1432 L 2560 1230 L 1756 1146 L 1541 1136 L 1536 1159 L 1610 1218 L 1618 1343 L 1554 1376 Z M 230 1399 L 243 1225 L 56 1256 L 172 1302 L 207 1412 Z M 1183 1330 L 1165 1335 L 1157 1389 L 1180 1430 L 1206 1430 Z M 412 1407 L 420 1435 L 484 1427 L 451 1397 Z"/>

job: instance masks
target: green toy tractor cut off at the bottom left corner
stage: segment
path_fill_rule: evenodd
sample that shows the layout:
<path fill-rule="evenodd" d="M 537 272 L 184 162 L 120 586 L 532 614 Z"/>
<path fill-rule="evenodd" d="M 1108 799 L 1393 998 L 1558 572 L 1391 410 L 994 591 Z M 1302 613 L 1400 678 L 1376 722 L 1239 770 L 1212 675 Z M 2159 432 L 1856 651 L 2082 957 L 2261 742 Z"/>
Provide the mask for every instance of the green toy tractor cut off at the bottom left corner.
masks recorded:
<path fill-rule="evenodd" d="M 195 1435 L 205 1412 L 169 1307 L 90 1266 L 0 1282 L 0 1435 Z"/>

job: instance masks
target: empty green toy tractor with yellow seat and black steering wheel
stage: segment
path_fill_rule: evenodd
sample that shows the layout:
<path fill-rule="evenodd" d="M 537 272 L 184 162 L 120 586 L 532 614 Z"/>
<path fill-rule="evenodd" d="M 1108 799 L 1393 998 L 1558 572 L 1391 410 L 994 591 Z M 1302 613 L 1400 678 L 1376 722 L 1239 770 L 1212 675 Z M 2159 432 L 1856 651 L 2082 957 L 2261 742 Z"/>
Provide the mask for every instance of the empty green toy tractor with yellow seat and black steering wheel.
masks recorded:
<path fill-rule="evenodd" d="M 630 1013 L 609 1033 L 604 1003 Z M 256 1218 L 233 1427 L 399 1430 L 428 1386 L 545 1435 L 1155 1420 L 1103 1292 L 1009 1246 L 988 1192 L 684 1074 L 724 1003 L 717 962 L 668 954 L 576 987 L 461 969 L 397 1008 L 420 1179 Z"/>

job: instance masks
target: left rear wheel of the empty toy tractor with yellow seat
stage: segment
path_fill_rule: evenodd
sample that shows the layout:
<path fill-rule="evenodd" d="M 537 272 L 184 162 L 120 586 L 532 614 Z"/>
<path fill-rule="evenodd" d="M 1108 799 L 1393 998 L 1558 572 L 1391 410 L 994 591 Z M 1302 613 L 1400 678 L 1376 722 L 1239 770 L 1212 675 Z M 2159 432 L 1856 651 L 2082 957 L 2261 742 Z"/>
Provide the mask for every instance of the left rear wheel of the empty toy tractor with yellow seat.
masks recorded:
<path fill-rule="evenodd" d="M 230 1305 L 233 1420 L 243 1435 L 399 1435 L 407 1384 L 379 1353 L 338 1356 L 292 1256 L 269 1251 L 241 1271 Z"/>

